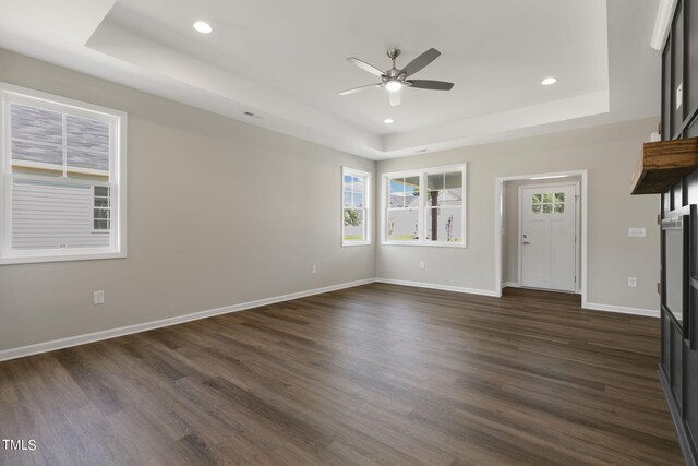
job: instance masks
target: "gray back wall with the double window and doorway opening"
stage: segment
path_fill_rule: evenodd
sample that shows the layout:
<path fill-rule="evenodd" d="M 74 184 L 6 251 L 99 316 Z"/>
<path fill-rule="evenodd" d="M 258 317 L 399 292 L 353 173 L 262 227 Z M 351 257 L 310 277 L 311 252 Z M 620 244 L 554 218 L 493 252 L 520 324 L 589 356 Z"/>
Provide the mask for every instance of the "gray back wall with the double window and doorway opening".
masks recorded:
<path fill-rule="evenodd" d="M 629 195 L 641 144 L 655 129 L 657 119 L 643 119 L 380 162 L 378 183 L 382 172 L 468 163 L 468 248 L 380 246 L 377 276 L 494 291 L 495 179 L 587 169 L 589 302 L 658 310 L 659 196 Z M 628 227 L 647 228 L 647 238 L 628 238 Z"/>

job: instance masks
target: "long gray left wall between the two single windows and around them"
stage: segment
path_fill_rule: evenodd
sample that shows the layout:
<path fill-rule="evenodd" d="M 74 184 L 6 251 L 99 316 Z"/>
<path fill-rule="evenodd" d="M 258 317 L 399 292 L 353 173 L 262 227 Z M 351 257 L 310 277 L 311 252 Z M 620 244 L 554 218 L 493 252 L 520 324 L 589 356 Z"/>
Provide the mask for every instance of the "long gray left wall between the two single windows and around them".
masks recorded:
<path fill-rule="evenodd" d="M 0 81 L 129 113 L 128 259 L 0 266 L 0 350 L 375 276 L 339 211 L 374 162 L 1 49 Z"/>

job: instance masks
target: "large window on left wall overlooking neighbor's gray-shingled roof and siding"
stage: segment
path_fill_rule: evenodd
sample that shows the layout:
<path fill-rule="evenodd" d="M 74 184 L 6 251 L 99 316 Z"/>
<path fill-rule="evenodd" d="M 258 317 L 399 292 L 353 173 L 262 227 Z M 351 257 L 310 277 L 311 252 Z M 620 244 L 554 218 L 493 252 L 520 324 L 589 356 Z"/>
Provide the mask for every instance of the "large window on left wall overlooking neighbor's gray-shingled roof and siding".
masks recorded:
<path fill-rule="evenodd" d="M 125 255 L 125 113 L 0 84 L 0 264 Z"/>

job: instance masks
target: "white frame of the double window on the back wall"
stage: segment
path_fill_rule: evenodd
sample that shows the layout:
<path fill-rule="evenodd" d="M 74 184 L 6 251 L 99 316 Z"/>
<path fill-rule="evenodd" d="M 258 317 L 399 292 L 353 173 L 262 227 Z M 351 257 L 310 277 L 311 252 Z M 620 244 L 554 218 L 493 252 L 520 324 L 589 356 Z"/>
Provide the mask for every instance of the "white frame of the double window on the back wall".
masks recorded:
<path fill-rule="evenodd" d="M 404 171 L 390 171 L 381 174 L 381 244 L 382 246 L 423 246 L 430 248 L 467 248 L 468 243 L 468 235 L 467 235 L 467 164 L 454 164 L 454 165 L 444 165 L 440 167 L 428 167 L 412 170 L 404 170 Z M 462 241 L 460 242 L 444 242 L 444 241 L 430 241 L 425 238 L 425 222 L 426 222 L 426 210 L 431 208 L 426 205 L 426 177 L 429 175 L 444 174 L 449 171 L 460 171 L 462 176 L 462 205 L 460 206 L 462 211 Z M 393 178 L 409 178 L 409 177 L 419 177 L 419 207 L 418 213 L 418 232 L 420 239 L 412 241 L 396 241 L 388 240 L 387 237 L 387 212 L 390 204 L 389 201 L 389 180 Z M 397 207 L 395 207 L 397 208 Z M 405 208 L 405 207 L 402 207 Z"/>

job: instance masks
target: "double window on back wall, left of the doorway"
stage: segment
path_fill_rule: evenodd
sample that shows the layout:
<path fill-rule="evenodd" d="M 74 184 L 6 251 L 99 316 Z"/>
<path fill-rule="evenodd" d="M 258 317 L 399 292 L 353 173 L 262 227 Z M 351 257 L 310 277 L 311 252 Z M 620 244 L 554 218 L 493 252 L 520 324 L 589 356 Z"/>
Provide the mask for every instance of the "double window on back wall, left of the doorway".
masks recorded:
<path fill-rule="evenodd" d="M 464 165 L 383 176 L 384 243 L 465 246 Z"/>

